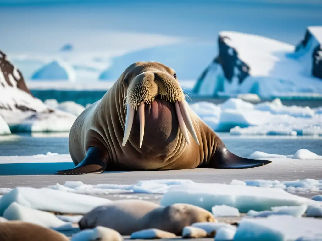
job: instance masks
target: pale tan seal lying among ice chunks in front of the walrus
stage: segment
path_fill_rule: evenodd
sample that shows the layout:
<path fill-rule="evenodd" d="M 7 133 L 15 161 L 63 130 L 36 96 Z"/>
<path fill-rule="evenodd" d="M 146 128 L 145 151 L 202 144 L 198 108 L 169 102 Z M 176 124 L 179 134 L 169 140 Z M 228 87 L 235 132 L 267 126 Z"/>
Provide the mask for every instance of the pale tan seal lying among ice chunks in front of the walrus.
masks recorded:
<path fill-rule="evenodd" d="M 163 207 L 144 200 L 118 200 L 99 206 L 83 216 L 80 229 L 103 226 L 131 235 L 145 229 L 160 229 L 181 235 L 185 226 L 197 222 L 216 222 L 211 212 L 184 203 Z"/>

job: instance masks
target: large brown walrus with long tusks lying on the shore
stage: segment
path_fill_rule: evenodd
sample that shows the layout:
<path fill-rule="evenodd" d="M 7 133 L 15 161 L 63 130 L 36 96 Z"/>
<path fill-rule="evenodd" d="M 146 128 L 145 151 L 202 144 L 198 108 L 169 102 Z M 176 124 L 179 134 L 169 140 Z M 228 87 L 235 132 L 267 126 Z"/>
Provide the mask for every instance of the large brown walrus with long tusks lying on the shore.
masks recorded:
<path fill-rule="evenodd" d="M 271 162 L 232 154 L 186 103 L 175 71 L 159 62 L 130 65 L 85 109 L 71 127 L 69 151 L 75 167 L 59 174 L 250 168 Z"/>

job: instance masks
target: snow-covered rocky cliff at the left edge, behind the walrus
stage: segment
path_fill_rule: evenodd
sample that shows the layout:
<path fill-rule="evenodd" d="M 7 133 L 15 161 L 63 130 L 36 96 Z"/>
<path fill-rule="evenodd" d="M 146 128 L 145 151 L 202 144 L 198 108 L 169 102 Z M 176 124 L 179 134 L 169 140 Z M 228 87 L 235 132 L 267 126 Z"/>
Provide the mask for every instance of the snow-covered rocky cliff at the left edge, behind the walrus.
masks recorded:
<path fill-rule="evenodd" d="M 41 100 L 33 97 L 21 71 L 14 67 L 1 51 L 0 67 L 0 116 L 11 131 L 68 131 L 70 129 L 76 116 L 51 109 Z"/>

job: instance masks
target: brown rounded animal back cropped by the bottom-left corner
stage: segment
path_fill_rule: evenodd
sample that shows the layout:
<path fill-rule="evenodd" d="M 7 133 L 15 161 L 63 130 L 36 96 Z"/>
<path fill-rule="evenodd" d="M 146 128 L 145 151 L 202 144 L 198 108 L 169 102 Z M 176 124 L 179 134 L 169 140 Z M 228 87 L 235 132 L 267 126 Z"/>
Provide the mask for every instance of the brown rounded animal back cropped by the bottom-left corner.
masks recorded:
<path fill-rule="evenodd" d="M 21 221 L 0 222 L 0 240 L 68 241 L 65 235 L 40 225 Z"/>

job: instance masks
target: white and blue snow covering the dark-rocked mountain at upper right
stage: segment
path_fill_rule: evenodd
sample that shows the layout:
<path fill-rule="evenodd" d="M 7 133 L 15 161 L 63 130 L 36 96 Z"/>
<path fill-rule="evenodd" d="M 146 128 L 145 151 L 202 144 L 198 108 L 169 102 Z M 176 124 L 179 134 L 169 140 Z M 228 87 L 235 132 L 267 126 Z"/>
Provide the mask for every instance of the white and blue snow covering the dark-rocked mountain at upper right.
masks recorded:
<path fill-rule="evenodd" d="M 321 27 L 314 32 L 321 35 Z M 312 50 L 320 43 L 316 38 L 312 38 L 306 48 L 298 53 L 294 52 L 293 45 L 258 35 L 234 31 L 222 31 L 219 35 L 228 37 L 224 42 L 235 49 L 238 58 L 250 67 L 250 76 L 239 85 L 239 71 L 235 68 L 235 76 L 229 83 L 222 67 L 210 64 L 214 71 L 204 79 L 200 95 L 236 96 L 253 93 L 260 97 L 271 97 L 285 94 L 297 96 L 301 93 L 322 94 L 321 80 L 311 75 Z M 223 91 L 217 89 L 221 79 L 225 80 Z"/>

